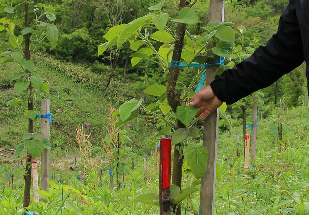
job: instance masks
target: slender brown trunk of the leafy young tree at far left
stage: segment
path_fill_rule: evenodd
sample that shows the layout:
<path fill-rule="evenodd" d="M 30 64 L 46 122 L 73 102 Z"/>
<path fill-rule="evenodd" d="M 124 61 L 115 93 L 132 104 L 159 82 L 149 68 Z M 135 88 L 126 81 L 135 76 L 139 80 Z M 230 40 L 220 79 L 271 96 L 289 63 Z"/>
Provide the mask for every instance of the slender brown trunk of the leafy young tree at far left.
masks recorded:
<path fill-rule="evenodd" d="M 25 27 L 29 27 L 29 4 L 28 1 L 25 3 Z M 30 49 L 29 49 L 29 34 L 25 34 L 25 58 L 30 60 Z M 30 74 L 31 75 L 31 74 Z M 29 75 L 29 76 L 30 76 Z M 28 110 L 33 110 L 33 96 L 32 96 L 32 86 L 29 85 L 30 98 L 28 100 Z M 33 133 L 33 120 L 28 119 L 28 132 Z M 31 155 L 27 151 L 26 158 L 26 175 L 24 175 L 25 187 L 23 195 L 23 208 L 30 205 L 30 191 L 31 191 Z"/>

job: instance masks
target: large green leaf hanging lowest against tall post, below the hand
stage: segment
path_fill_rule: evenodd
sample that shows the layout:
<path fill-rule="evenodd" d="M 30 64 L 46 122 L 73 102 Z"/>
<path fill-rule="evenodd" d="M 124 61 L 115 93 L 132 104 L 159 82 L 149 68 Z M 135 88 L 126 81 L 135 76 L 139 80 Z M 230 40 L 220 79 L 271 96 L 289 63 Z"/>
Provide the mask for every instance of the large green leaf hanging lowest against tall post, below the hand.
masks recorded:
<path fill-rule="evenodd" d="M 189 145 L 186 155 L 187 163 L 196 179 L 200 179 L 206 172 L 208 150 L 205 146 Z"/>

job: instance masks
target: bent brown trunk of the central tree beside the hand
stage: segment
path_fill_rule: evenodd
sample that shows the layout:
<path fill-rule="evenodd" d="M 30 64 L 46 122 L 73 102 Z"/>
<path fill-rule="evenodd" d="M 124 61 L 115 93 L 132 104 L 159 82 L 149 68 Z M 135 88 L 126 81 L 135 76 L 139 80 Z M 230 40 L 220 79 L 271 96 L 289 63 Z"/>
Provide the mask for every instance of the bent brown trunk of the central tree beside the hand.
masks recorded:
<path fill-rule="evenodd" d="M 179 10 L 181 10 L 184 7 L 188 7 L 189 2 L 186 0 L 180 0 L 179 3 Z M 186 32 L 187 25 L 184 23 L 179 23 L 177 32 L 176 32 L 176 38 L 174 45 L 174 52 L 172 56 L 173 61 L 180 61 L 180 56 L 182 52 L 182 47 L 184 43 L 184 35 Z M 167 102 L 171 106 L 174 112 L 176 112 L 177 107 L 180 105 L 180 94 L 176 92 L 176 82 L 179 74 L 179 68 L 170 68 L 170 73 L 168 76 L 168 82 L 167 82 Z M 185 128 L 185 125 L 182 124 L 179 120 L 176 121 L 177 129 L 178 128 Z M 183 164 L 183 157 L 180 157 L 180 143 L 175 145 L 174 148 L 174 160 L 173 160 L 173 175 L 172 175 L 172 184 L 177 185 L 181 189 L 181 180 L 182 180 L 182 164 Z M 176 205 L 173 206 L 173 209 L 176 209 Z M 178 207 L 177 212 L 175 215 L 181 214 L 181 206 Z"/>

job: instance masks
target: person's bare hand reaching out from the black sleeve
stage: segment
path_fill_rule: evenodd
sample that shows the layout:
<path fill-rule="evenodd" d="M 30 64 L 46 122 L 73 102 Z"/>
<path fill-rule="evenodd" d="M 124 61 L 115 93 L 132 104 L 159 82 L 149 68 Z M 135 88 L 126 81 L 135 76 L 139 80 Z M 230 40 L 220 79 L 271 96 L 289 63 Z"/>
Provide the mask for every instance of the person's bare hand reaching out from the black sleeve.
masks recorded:
<path fill-rule="evenodd" d="M 200 121 L 202 121 L 205 120 L 211 112 L 220 107 L 222 103 L 223 102 L 214 95 L 210 85 L 208 85 L 198 91 L 198 93 L 190 100 L 189 104 L 199 108 L 195 117 L 198 117 L 203 113 L 200 117 Z"/>

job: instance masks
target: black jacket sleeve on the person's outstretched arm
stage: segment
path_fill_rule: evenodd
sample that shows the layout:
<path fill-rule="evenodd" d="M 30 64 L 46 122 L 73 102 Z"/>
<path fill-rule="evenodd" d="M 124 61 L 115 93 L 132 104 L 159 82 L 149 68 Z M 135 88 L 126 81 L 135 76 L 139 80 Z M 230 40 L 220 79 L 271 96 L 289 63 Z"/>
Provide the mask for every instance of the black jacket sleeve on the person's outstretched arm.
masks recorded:
<path fill-rule="evenodd" d="M 278 31 L 265 46 L 233 69 L 217 75 L 210 86 L 221 101 L 232 104 L 252 92 L 270 86 L 304 61 L 303 44 L 296 17 L 295 2 L 280 17 Z"/>

